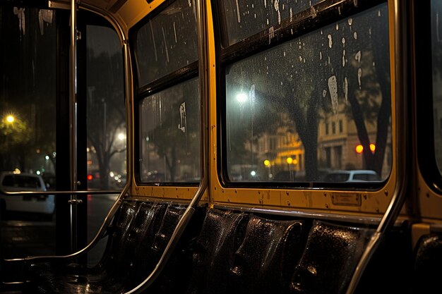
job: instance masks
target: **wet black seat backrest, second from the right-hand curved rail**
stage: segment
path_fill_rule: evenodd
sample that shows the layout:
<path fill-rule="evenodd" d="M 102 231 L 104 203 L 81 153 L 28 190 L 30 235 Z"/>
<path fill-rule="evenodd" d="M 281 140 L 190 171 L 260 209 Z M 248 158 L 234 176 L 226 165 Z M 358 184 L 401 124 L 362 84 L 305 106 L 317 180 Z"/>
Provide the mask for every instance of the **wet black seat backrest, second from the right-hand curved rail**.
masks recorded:
<path fill-rule="evenodd" d="M 239 293 L 289 293 L 289 281 L 304 250 L 304 221 L 251 215 L 230 272 Z"/>

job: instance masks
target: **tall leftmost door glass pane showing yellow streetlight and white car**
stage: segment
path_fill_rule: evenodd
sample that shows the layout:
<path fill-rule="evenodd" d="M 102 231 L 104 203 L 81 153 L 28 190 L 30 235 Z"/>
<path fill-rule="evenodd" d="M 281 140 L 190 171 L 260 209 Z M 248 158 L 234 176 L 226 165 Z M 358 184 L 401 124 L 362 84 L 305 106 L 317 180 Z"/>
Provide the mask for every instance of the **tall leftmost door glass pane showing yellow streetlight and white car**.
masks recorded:
<path fill-rule="evenodd" d="M 55 18 L 54 11 L 0 6 L 2 190 L 55 188 Z M 0 195 L 1 258 L 54 255 L 54 206 L 54 195 Z"/>

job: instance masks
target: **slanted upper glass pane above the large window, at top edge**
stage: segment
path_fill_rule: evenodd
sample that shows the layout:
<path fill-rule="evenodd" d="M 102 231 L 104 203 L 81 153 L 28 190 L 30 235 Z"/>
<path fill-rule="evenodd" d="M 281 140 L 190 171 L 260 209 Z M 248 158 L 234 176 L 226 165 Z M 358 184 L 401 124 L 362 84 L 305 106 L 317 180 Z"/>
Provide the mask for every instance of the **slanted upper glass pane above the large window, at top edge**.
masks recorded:
<path fill-rule="evenodd" d="M 321 0 L 222 0 L 229 45 L 246 37 L 273 30 L 283 20 L 292 21 L 296 13 L 311 8 Z M 314 11 L 311 11 L 313 13 Z"/>

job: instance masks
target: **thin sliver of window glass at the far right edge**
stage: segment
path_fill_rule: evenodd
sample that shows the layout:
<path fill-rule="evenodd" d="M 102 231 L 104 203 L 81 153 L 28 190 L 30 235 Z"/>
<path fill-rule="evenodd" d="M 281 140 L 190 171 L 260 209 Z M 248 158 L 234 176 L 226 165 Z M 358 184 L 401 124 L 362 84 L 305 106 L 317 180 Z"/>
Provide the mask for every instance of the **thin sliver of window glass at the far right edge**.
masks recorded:
<path fill-rule="evenodd" d="M 434 152 L 442 174 L 442 3 L 431 1 L 431 59 L 433 63 Z"/>

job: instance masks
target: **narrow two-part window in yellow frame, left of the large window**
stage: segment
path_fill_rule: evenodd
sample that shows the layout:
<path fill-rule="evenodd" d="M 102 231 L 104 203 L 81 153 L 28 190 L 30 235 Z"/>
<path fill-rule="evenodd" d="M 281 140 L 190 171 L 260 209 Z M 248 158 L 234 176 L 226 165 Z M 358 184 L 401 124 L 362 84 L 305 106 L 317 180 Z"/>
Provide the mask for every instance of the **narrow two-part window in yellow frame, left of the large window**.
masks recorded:
<path fill-rule="evenodd" d="M 134 34 L 142 183 L 200 179 L 195 9 L 194 1 L 172 1 Z"/>

